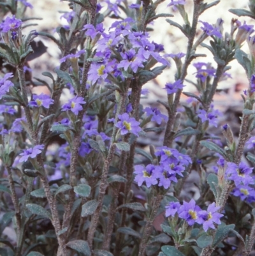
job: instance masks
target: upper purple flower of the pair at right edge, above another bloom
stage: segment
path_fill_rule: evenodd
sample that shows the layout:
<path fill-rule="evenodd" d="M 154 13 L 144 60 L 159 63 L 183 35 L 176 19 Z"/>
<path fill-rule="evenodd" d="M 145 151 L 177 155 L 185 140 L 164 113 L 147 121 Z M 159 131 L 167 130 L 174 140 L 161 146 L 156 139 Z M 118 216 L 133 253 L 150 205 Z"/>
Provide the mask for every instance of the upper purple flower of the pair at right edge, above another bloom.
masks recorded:
<path fill-rule="evenodd" d="M 227 163 L 228 167 L 226 168 L 225 177 L 230 181 L 234 181 L 235 185 L 244 184 L 253 184 L 254 181 L 251 177 L 253 168 L 248 167 L 245 163 L 241 162 L 239 165 L 235 163 Z"/>

